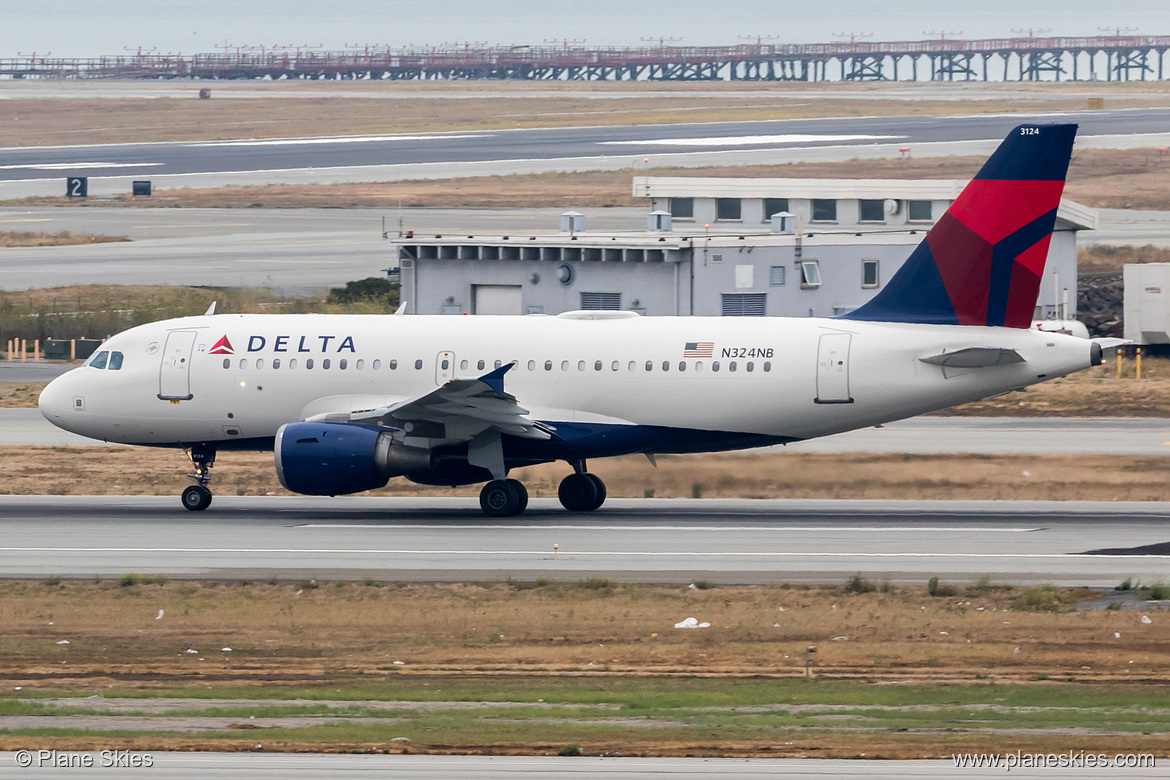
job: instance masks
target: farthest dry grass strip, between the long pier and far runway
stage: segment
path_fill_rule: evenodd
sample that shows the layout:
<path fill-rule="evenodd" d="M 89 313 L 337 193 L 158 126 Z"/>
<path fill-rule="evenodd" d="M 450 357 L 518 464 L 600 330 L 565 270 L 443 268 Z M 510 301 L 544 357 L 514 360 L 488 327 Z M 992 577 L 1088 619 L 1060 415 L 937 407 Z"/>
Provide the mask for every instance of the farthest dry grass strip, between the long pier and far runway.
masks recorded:
<path fill-rule="evenodd" d="M 1085 96 L 1106 94 L 1110 108 L 1164 105 L 1165 95 L 1129 84 L 1028 85 L 1034 97 L 1018 98 L 992 85 L 972 90 L 966 101 L 853 99 L 849 91 L 881 85 L 784 84 L 555 84 L 479 82 L 459 84 L 325 84 L 281 82 L 271 85 L 218 84 L 209 101 L 157 97 L 142 118 L 142 98 L 13 101 L 0 117 L 0 146 L 42 144 L 184 141 L 233 138 L 284 138 L 442 130 L 493 130 L 532 126 L 735 122 L 817 116 L 913 116 L 1082 109 Z M 903 85 L 897 85 L 902 88 Z M 1016 85 L 1011 85 L 1016 87 Z M 792 92 L 807 92 L 807 99 Z M 831 91 L 833 97 L 820 92 Z M 325 92 L 326 95 L 323 95 Z M 1123 92 L 1114 94 L 1110 92 Z M 274 94 L 282 95 L 281 97 Z M 344 97 L 338 96 L 344 95 Z M 377 94 L 377 97 L 371 97 Z M 606 94 L 597 99 L 598 94 Z M 929 92 L 924 94 L 929 95 Z M 226 97 L 230 95 L 230 97 Z M 219 98 L 219 99 L 216 99 Z M 133 117 L 135 120 L 128 120 Z"/>

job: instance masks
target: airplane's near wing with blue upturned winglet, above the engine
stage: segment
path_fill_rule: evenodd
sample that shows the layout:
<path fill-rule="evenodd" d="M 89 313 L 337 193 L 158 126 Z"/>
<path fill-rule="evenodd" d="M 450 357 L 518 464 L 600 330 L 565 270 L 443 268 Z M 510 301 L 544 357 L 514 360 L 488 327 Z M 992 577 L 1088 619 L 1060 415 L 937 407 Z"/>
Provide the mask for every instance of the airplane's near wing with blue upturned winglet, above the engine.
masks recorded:
<path fill-rule="evenodd" d="M 428 447 L 470 441 L 486 432 L 522 439 L 552 439 L 549 428 L 530 419 L 529 410 L 516 401 L 516 396 L 504 392 L 504 374 L 514 365 L 501 366 L 477 379 L 452 379 L 425 395 L 377 408 L 309 419 L 377 424 L 401 432 L 395 439 L 410 439 L 415 446 Z"/>

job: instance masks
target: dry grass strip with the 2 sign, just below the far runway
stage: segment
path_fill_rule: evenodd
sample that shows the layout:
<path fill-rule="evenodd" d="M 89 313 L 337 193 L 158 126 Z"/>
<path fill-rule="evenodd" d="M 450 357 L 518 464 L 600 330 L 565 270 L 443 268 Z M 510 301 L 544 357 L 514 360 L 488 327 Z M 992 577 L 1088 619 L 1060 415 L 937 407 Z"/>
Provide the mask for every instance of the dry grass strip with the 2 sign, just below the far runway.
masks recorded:
<path fill-rule="evenodd" d="M 653 159 L 653 158 L 652 158 Z M 356 182 L 337 185 L 266 185 L 211 189 L 158 189 L 150 199 L 119 195 L 90 201 L 103 206 L 187 208 L 370 208 L 509 207 L 536 208 L 550 203 L 574 207 L 639 206 L 632 194 L 635 175 L 845 178 L 845 179 L 970 179 L 983 158 L 942 157 L 910 160 L 848 160 L 786 165 L 711 166 L 701 168 L 646 167 L 580 173 L 537 173 L 462 179 Z M 1099 208 L 1170 208 L 1170 158 L 1152 149 L 1081 150 L 1068 172 L 1066 196 Z M 23 199 L 21 205 L 63 205 L 63 196 Z M 1092 271 L 1088 271 L 1092 272 Z"/>

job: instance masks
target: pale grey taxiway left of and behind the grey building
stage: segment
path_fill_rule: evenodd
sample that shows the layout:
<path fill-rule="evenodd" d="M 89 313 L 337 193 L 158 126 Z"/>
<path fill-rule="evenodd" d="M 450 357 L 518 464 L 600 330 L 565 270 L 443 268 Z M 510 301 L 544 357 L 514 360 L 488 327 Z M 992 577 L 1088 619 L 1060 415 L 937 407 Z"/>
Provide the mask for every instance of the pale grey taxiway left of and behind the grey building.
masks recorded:
<path fill-rule="evenodd" d="M 1170 141 L 1168 141 L 1170 143 Z M 106 284 L 270 287 L 303 294 L 380 276 L 397 265 L 381 233 L 555 233 L 573 207 L 516 209 L 0 208 L 0 230 L 126 235 L 130 243 L 0 250 L 0 288 L 25 290 L 101 278 Z M 576 207 L 573 207 L 576 208 Z M 577 208 L 590 232 L 645 227 L 645 208 Z M 385 220 L 385 222 L 384 222 Z M 1170 212 L 1102 213 L 1085 243 L 1170 246 Z"/>

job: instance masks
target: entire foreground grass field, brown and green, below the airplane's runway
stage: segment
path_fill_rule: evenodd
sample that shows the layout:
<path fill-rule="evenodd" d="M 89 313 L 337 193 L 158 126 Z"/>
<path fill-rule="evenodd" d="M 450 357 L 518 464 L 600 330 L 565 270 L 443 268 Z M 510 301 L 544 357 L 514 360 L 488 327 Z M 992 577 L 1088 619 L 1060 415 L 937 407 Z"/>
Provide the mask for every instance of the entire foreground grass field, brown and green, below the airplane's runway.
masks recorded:
<path fill-rule="evenodd" d="M 5 582 L 0 750 L 1166 754 L 1164 613 L 940 593 Z M 673 627 L 687 615 L 711 627 Z"/>

